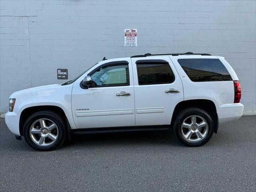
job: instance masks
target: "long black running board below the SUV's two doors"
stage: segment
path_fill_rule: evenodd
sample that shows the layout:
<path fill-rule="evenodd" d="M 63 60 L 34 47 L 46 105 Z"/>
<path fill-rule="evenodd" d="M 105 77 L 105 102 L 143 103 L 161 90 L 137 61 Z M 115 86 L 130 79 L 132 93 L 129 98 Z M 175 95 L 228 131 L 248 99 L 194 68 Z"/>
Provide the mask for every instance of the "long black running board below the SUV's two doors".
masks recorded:
<path fill-rule="evenodd" d="M 158 126 L 129 126 L 129 127 L 106 127 L 106 128 L 84 128 L 73 129 L 73 134 L 90 134 L 90 133 L 112 133 L 112 132 L 129 132 L 129 131 L 155 131 L 168 130 L 170 125 Z"/>

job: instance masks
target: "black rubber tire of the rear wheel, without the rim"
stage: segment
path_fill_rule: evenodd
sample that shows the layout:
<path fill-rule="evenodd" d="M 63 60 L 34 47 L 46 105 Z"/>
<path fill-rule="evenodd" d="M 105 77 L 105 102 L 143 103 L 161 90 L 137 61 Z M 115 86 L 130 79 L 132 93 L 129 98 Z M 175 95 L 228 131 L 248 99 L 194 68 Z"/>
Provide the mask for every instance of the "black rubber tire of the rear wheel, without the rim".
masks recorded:
<path fill-rule="evenodd" d="M 202 138 L 199 141 L 189 141 L 182 134 L 183 121 L 186 118 L 193 116 L 193 115 L 203 117 L 208 123 L 208 131 L 205 134 L 204 138 Z M 214 122 L 212 120 L 212 117 L 206 111 L 204 111 L 200 108 L 186 108 L 184 110 L 181 110 L 177 114 L 177 116 L 174 119 L 172 128 L 173 128 L 175 136 L 178 138 L 178 140 L 180 140 L 180 142 L 182 142 L 186 146 L 197 147 L 197 146 L 202 146 L 202 145 L 206 144 L 210 140 L 210 138 L 212 137 L 212 134 L 214 132 Z"/>

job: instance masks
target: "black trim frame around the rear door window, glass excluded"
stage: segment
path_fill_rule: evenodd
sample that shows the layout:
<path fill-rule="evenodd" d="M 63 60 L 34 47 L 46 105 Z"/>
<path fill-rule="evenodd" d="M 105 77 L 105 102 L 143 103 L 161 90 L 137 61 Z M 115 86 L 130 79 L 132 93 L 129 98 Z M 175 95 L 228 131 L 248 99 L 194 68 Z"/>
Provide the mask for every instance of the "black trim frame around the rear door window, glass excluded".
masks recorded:
<path fill-rule="evenodd" d="M 166 60 L 162 60 L 162 59 L 144 59 L 144 60 L 137 60 L 136 62 L 136 70 L 137 70 L 137 79 L 138 79 L 138 85 L 139 86 L 144 86 L 144 85 L 160 85 L 160 84 L 172 84 L 175 81 L 175 75 L 174 72 L 170 66 L 170 63 Z M 173 80 L 171 82 L 161 82 L 161 83 L 147 83 L 147 84 L 140 84 L 139 82 L 139 74 L 138 74 L 138 67 L 137 64 L 148 64 L 148 63 L 160 63 L 160 64 L 166 64 L 169 66 L 170 71 L 172 72 L 173 75 Z"/>

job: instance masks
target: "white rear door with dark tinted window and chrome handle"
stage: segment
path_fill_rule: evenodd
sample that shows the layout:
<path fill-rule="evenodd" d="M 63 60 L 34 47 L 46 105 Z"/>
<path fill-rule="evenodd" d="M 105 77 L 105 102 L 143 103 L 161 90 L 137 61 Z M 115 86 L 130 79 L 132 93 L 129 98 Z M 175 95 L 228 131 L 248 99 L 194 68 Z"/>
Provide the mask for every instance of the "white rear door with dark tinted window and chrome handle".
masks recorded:
<path fill-rule="evenodd" d="M 180 77 L 169 57 L 132 58 L 135 125 L 170 125 L 183 100 Z"/>

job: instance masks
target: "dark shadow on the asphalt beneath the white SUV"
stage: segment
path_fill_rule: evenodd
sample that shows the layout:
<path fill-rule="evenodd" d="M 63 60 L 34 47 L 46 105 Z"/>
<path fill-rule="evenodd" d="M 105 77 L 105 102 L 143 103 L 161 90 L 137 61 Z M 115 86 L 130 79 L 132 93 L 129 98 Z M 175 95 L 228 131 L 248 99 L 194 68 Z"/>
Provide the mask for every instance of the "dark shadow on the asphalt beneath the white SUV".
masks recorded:
<path fill-rule="evenodd" d="M 232 127 L 232 126 L 230 126 Z M 241 130 L 242 133 L 242 130 Z M 22 141 L 15 140 L 6 127 L 2 142 L 6 142 L 8 150 L 35 151 L 26 143 L 24 137 Z M 230 131 L 227 125 L 220 126 L 218 134 L 213 134 L 210 141 L 204 146 L 226 146 L 236 145 L 234 137 L 236 132 Z M 13 142 L 15 140 L 15 142 Z M 246 143 L 240 137 L 240 144 Z M 178 141 L 172 130 L 154 131 L 134 131 L 134 132 L 114 132 L 97 134 L 72 134 L 72 140 L 65 142 L 57 151 L 68 151 L 72 149 L 86 150 L 91 147 L 96 148 L 122 148 L 122 147 L 186 147 Z M 5 148 L 7 150 L 7 148 Z"/>

